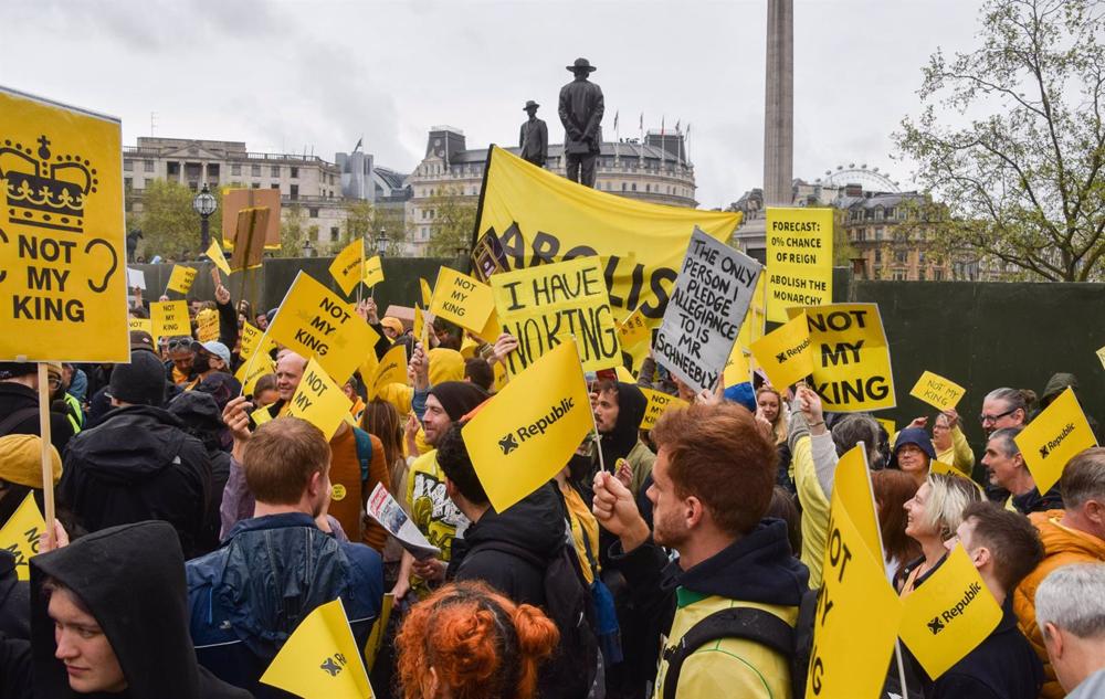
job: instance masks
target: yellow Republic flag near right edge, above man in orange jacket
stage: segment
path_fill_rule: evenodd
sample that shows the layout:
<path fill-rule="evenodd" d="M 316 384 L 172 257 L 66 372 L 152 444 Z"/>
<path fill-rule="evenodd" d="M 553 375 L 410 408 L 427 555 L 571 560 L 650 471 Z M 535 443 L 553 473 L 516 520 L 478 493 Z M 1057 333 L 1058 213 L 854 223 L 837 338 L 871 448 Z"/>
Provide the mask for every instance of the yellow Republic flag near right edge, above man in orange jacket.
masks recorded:
<path fill-rule="evenodd" d="M 1059 394 L 1013 441 L 1024 455 L 1036 490 L 1046 493 L 1075 454 L 1097 446 L 1073 389 Z"/>

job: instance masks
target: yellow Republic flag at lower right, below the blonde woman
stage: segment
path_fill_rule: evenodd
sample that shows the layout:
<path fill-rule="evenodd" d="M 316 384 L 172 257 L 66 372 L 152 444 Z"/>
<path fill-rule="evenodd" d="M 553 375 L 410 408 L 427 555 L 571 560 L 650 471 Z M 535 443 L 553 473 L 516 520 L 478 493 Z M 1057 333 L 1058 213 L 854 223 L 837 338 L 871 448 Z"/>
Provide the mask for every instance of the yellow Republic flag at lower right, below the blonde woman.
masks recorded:
<path fill-rule="evenodd" d="M 986 640 L 1001 622 L 1001 606 L 961 546 L 903 605 L 898 635 L 933 679 Z"/>

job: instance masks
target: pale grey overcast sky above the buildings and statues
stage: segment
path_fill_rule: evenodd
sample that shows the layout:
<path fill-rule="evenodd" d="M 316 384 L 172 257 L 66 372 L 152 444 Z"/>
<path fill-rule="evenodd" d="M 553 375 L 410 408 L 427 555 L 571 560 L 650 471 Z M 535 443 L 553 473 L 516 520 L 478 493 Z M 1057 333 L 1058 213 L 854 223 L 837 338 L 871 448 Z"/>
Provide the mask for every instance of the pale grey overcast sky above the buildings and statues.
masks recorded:
<path fill-rule="evenodd" d="M 798 0 L 794 176 L 850 162 L 890 170 L 891 134 L 919 112 L 920 68 L 969 49 L 975 0 Z M 598 66 L 603 129 L 692 126 L 704 208 L 760 187 L 766 0 L 568 2 L 411 0 L 3 0 L 0 85 L 113 114 L 125 145 L 150 135 L 244 140 L 327 160 L 364 135 L 377 162 L 409 172 L 427 130 L 470 148 L 516 145 L 536 99 L 549 137 L 564 68 Z"/>

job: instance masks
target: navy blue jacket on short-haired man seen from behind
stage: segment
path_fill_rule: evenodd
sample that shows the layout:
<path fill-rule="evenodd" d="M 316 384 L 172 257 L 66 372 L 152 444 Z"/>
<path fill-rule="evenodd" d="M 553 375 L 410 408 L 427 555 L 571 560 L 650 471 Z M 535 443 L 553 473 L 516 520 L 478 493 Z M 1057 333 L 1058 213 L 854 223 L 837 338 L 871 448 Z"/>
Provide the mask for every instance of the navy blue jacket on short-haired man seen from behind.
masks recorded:
<path fill-rule="evenodd" d="M 200 664 L 259 699 L 259 680 L 299 622 L 341 597 L 364 647 L 383 597 L 380 554 L 343 543 L 293 512 L 246 519 L 217 551 L 188 561 L 192 643 Z"/>

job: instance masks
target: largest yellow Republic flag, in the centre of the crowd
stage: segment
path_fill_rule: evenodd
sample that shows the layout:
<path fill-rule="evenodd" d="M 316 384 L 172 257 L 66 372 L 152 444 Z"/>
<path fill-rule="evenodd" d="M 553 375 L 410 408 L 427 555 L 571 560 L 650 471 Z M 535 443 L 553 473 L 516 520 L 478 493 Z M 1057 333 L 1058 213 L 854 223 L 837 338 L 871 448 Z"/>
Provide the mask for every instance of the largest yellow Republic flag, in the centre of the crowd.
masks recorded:
<path fill-rule="evenodd" d="M 487 498 L 502 512 L 564 468 L 593 427 L 569 338 L 515 374 L 462 434 Z"/>

